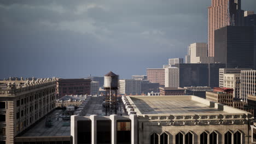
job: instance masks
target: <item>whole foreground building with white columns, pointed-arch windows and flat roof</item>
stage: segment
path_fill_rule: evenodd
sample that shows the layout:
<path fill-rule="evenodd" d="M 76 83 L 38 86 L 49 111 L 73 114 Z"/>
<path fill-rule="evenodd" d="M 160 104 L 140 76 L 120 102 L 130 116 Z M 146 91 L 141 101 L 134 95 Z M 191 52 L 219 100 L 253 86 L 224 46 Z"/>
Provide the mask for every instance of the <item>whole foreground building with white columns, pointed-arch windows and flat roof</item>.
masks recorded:
<path fill-rule="evenodd" d="M 191 95 L 122 100 L 128 115 L 72 116 L 73 144 L 249 143 L 249 112 Z"/>

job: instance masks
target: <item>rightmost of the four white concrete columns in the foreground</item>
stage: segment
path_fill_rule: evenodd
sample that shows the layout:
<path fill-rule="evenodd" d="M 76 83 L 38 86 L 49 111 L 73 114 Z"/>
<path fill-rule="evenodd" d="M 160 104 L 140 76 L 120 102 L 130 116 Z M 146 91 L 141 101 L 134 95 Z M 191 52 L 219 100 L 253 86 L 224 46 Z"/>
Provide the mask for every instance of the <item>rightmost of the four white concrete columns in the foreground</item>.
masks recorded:
<path fill-rule="evenodd" d="M 131 144 L 137 144 L 138 137 L 138 120 L 137 115 L 130 115 L 131 119 Z"/>

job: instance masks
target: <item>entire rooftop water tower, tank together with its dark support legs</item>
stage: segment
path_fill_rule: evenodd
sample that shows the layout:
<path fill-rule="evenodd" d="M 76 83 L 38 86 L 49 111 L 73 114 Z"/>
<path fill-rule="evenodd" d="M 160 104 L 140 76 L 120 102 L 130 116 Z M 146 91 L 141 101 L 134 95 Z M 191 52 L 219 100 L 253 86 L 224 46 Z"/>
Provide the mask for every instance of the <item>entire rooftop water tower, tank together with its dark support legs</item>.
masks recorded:
<path fill-rule="evenodd" d="M 113 112 L 117 114 L 118 81 L 119 75 L 114 74 L 112 71 L 104 75 L 104 89 L 106 90 L 106 116 L 108 115 L 108 111 L 109 115 Z"/>

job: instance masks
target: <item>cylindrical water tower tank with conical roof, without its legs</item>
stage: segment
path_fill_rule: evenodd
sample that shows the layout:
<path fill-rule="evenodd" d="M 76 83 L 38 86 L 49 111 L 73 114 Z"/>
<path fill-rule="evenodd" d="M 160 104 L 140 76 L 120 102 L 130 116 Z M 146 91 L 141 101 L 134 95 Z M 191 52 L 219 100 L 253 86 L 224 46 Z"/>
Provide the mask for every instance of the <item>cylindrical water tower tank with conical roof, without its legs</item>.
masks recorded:
<path fill-rule="evenodd" d="M 119 76 L 110 71 L 104 75 L 104 88 L 117 89 Z"/>

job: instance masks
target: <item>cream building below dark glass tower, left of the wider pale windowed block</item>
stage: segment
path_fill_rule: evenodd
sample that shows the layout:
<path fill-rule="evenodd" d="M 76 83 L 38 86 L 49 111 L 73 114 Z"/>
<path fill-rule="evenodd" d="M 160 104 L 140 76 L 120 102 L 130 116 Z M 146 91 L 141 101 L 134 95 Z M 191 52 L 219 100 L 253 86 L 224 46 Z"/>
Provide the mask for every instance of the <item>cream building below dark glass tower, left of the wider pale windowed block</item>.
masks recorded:
<path fill-rule="evenodd" d="M 240 97 L 240 74 L 224 74 L 223 87 L 234 89 L 234 98 Z"/>

